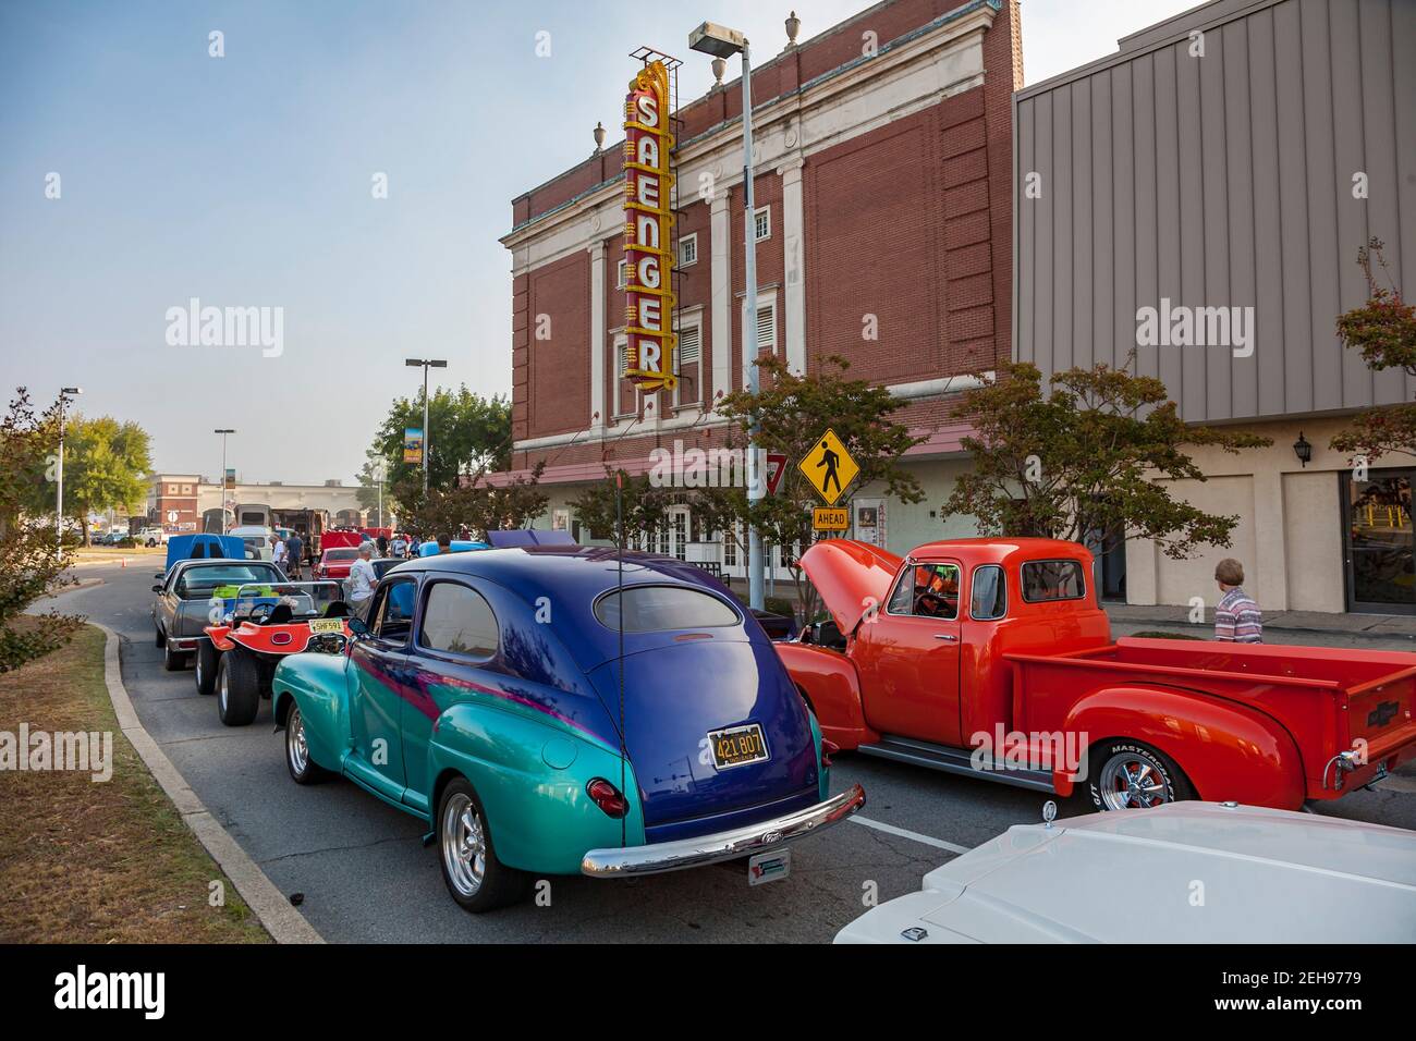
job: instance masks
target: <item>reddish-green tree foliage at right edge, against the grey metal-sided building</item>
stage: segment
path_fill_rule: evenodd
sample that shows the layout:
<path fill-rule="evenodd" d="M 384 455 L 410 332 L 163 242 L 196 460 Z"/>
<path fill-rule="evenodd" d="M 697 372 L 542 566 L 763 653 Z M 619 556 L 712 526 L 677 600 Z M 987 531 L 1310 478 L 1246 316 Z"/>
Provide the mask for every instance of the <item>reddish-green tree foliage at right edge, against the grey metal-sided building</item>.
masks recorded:
<path fill-rule="evenodd" d="M 1381 269 L 1386 285 L 1372 271 Z M 1399 368 L 1416 377 L 1416 306 L 1402 299 L 1386 268 L 1382 241 L 1358 249 L 1357 263 L 1366 278 L 1368 299 L 1361 307 L 1338 314 L 1337 334 L 1348 350 L 1361 351 L 1374 371 Z M 1403 402 L 1359 412 L 1352 425 L 1332 438 L 1332 448 L 1368 463 L 1389 453 L 1416 456 L 1416 404 Z"/>

